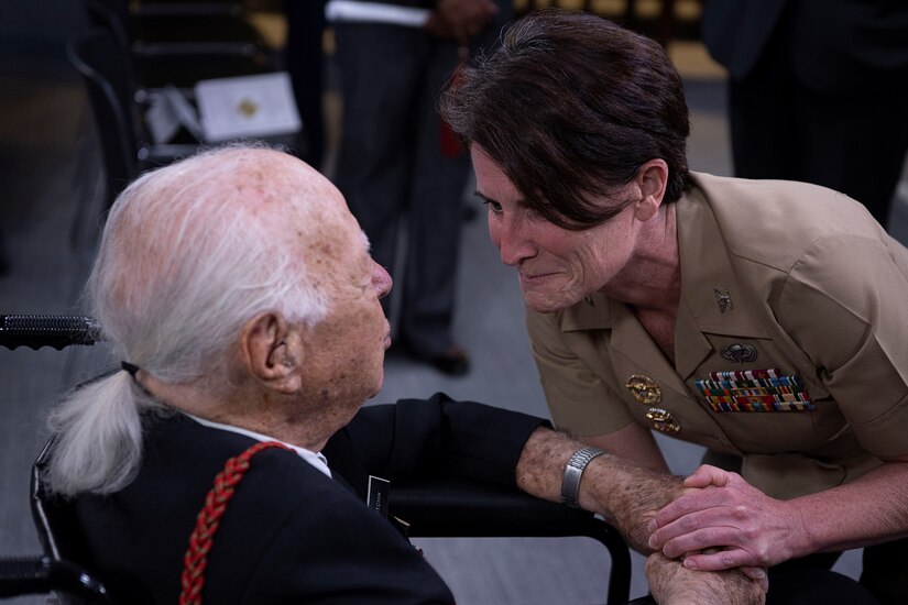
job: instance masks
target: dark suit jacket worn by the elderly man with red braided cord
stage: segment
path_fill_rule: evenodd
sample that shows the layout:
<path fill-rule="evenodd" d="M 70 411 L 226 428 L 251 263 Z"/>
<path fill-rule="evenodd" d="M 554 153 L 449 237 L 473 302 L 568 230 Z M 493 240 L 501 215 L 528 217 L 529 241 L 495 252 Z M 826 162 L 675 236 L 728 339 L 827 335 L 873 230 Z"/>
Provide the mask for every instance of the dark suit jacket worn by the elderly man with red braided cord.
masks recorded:
<path fill-rule="evenodd" d="M 324 450 L 337 480 L 293 452 L 259 453 L 215 536 L 204 600 L 452 603 L 423 557 L 365 506 L 368 476 L 391 480 L 392 494 L 394 480 L 428 474 L 514 485 L 517 459 L 540 424 L 436 395 L 360 410 Z M 176 603 L 205 495 L 227 459 L 252 444 L 182 414 L 151 421 L 135 481 L 76 501 L 87 542 L 79 560 L 119 603 Z"/>

